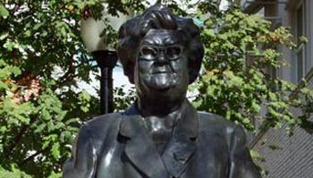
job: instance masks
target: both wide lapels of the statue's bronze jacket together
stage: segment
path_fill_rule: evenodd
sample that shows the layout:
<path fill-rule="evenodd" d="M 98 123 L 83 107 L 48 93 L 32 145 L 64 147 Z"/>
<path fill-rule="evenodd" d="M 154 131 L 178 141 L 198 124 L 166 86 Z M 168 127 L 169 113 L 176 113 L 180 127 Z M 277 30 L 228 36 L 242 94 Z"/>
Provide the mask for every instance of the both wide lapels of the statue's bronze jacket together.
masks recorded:
<path fill-rule="evenodd" d="M 149 178 L 165 178 L 168 177 L 168 173 L 173 177 L 179 177 L 197 148 L 199 132 L 197 111 L 187 100 L 182 104 L 181 111 L 181 118 L 162 157 L 149 137 L 135 104 L 123 114 L 120 133 L 129 138 L 125 145 L 125 154 L 131 163 Z"/>

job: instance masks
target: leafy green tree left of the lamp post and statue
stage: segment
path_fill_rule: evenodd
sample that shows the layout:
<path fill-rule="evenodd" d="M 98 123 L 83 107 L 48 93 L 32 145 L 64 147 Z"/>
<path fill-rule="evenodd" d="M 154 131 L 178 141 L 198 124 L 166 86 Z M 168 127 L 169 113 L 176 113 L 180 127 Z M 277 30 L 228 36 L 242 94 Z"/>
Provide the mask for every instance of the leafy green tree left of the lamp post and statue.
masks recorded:
<path fill-rule="evenodd" d="M 97 98 L 76 92 L 77 81 L 89 82 L 97 67 L 80 39 L 84 4 L 75 2 L 0 4 L 0 167 L 6 170 L 60 173 L 72 136 L 98 114 Z"/>

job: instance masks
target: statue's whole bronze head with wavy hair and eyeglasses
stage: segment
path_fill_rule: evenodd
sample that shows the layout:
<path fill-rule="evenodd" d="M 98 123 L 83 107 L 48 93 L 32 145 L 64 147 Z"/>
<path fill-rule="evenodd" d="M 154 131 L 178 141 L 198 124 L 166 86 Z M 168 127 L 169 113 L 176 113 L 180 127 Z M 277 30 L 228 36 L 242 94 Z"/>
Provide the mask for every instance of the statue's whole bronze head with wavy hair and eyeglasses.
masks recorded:
<path fill-rule="evenodd" d="M 155 4 L 126 21 L 119 39 L 117 54 L 124 74 L 139 95 L 185 97 L 188 85 L 199 75 L 204 54 L 199 28 L 191 19 Z"/>

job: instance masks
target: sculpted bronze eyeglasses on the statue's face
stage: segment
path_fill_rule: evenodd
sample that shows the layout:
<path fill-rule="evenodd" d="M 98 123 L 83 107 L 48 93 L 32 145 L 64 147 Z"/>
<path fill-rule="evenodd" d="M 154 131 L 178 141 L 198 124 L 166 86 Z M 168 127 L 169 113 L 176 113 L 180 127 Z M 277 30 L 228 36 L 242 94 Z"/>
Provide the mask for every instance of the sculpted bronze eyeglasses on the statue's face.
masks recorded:
<path fill-rule="evenodd" d="M 140 56 L 145 58 L 148 61 L 154 61 L 158 57 L 158 55 L 163 52 L 166 59 L 170 61 L 177 60 L 182 56 L 183 47 L 180 45 L 172 45 L 168 47 L 157 47 L 157 46 L 148 46 L 143 45 L 140 48 Z"/>

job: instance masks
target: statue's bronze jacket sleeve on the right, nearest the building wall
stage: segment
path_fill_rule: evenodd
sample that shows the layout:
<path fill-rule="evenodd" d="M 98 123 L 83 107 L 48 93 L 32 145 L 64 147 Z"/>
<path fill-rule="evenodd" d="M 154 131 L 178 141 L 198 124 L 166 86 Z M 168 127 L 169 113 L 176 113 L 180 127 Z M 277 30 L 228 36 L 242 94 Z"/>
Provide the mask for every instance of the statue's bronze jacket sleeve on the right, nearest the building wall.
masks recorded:
<path fill-rule="evenodd" d="M 233 129 L 228 178 L 261 178 L 250 156 L 246 135 L 241 126 Z"/>

